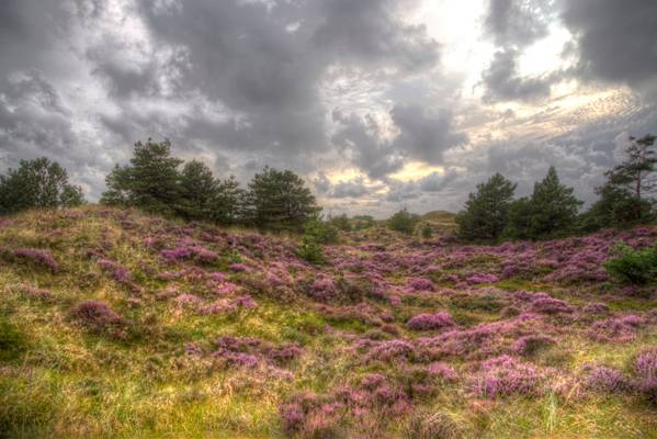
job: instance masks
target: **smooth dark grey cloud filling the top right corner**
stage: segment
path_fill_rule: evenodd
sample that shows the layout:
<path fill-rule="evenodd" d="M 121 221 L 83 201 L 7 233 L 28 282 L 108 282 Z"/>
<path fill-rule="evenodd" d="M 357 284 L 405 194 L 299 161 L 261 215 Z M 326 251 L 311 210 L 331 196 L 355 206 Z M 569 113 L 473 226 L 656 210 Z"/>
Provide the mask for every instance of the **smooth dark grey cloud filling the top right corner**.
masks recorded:
<path fill-rule="evenodd" d="M 657 2 L 569 0 L 563 12 L 576 36 L 578 72 L 644 86 L 657 81 Z"/>

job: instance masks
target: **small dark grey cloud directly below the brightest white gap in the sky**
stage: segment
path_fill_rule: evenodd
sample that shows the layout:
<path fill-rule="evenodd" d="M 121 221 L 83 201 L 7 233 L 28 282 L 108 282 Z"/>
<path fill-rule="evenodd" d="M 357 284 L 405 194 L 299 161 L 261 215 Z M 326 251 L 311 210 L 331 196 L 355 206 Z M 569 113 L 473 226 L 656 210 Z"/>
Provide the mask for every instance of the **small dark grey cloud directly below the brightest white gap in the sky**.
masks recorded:
<path fill-rule="evenodd" d="M 517 72 L 518 55 L 514 49 L 495 54 L 490 66 L 483 74 L 485 102 L 533 101 L 550 97 L 551 86 L 558 79 L 558 75 L 544 78 L 520 77 Z"/>

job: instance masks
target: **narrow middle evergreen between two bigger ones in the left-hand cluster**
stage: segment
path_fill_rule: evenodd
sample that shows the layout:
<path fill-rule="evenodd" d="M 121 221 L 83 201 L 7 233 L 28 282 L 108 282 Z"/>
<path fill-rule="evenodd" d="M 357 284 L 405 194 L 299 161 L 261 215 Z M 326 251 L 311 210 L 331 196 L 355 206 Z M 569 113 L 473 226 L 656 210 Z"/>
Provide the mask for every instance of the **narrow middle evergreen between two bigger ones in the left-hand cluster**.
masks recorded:
<path fill-rule="evenodd" d="M 188 161 L 180 173 L 180 202 L 178 209 L 186 219 L 206 219 L 213 216 L 217 181 L 201 161 Z"/>

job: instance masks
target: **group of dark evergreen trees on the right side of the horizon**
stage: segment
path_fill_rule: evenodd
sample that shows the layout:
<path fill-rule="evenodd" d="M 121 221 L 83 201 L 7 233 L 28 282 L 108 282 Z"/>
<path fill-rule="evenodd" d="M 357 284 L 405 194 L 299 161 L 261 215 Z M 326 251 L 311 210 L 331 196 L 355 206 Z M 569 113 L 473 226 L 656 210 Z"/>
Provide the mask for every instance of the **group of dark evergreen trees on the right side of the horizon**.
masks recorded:
<path fill-rule="evenodd" d="M 573 188 L 560 183 L 551 167 L 529 196 L 514 199 L 516 183 L 500 173 L 477 185 L 456 216 L 458 236 L 466 241 L 550 239 L 603 227 L 626 228 L 657 218 L 655 136 L 630 137 L 625 160 L 605 172 L 599 199 L 586 212 Z"/>

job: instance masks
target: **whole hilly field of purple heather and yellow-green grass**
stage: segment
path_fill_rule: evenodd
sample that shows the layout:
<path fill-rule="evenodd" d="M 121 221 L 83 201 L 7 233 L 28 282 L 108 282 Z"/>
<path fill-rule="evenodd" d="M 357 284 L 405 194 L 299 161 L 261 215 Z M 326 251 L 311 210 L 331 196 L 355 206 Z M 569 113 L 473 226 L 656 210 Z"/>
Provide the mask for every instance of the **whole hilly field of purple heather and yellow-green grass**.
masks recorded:
<path fill-rule="evenodd" d="M 0 437 L 657 438 L 657 291 L 602 268 L 656 237 L 2 218 Z"/>

